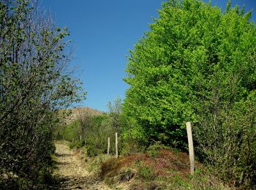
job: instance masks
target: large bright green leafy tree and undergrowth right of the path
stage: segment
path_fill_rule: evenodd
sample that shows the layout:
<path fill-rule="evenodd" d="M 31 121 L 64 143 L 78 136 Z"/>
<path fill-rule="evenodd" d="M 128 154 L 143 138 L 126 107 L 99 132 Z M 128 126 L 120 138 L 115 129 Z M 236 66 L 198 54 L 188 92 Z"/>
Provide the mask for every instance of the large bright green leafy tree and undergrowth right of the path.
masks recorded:
<path fill-rule="evenodd" d="M 235 185 L 255 183 L 256 27 L 230 2 L 167 1 L 131 51 L 124 112 L 147 140 L 197 153 Z"/>

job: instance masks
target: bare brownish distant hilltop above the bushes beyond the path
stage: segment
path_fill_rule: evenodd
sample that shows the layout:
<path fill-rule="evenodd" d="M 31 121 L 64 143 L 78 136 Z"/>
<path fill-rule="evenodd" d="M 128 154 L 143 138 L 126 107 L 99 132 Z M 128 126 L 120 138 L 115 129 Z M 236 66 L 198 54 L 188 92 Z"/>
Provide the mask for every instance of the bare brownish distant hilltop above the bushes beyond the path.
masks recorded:
<path fill-rule="evenodd" d="M 66 111 L 69 114 L 64 118 L 64 123 L 67 124 L 78 119 L 80 115 L 102 115 L 104 113 L 99 110 L 94 110 L 91 107 L 75 107 Z"/>

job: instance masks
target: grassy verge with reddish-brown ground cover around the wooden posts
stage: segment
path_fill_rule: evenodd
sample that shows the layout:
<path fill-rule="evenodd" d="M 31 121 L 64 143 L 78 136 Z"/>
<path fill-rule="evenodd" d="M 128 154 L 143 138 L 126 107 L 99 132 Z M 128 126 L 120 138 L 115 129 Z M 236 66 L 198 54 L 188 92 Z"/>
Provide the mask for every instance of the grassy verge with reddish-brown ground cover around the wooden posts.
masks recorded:
<path fill-rule="evenodd" d="M 187 153 L 160 148 L 128 156 L 86 156 L 80 148 L 90 172 L 116 189 L 228 189 L 211 175 L 206 167 L 196 162 L 195 175 L 189 172 Z"/>

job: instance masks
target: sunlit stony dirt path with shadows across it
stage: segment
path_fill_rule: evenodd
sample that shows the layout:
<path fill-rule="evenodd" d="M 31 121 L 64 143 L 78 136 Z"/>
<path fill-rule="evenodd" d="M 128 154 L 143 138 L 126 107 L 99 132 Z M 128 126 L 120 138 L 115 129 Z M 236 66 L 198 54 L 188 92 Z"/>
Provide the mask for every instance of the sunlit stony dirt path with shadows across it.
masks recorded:
<path fill-rule="evenodd" d="M 55 145 L 59 168 L 56 175 L 61 178 L 60 189 L 110 189 L 83 167 L 83 160 L 78 153 L 69 149 L 67 142 L 57 141 Z"/>

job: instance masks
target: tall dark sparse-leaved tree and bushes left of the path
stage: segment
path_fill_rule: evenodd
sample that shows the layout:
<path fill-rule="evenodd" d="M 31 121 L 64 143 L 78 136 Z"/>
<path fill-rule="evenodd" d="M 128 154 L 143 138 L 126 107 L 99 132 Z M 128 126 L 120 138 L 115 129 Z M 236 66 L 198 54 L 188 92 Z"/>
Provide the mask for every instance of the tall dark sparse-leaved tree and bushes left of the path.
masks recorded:
<path fill-rule="evenodd" d="M 50 180 L 56 113 L 82 95 L 66 73 L 68 34 L 31 1 L 0 1 L 1 188 L 44 188 Z"/>

